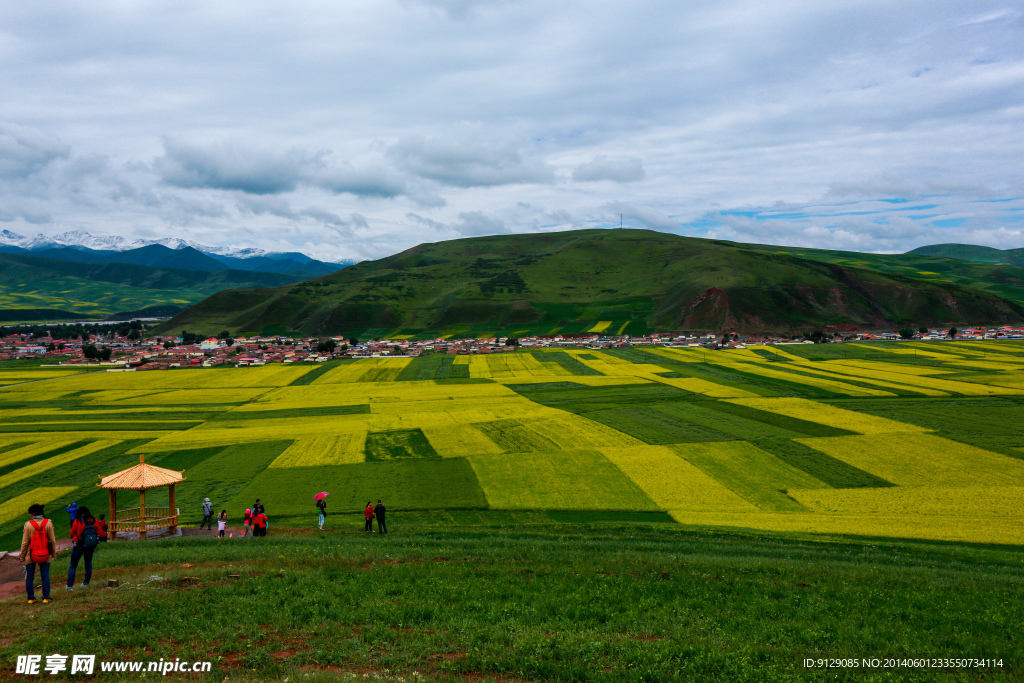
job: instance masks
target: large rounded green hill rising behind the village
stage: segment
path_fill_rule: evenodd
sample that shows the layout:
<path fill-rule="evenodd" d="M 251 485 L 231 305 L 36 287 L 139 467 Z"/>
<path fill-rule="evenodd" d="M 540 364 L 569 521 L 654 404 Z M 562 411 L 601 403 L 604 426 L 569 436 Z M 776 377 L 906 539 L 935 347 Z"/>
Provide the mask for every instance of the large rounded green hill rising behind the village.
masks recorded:
<path fill-rule="evenodd" d="M 362 337 L 1024 319 L 1020 303 L 965 284 L 770 249 L 632 229 L 455 240 L 296 285 L 219 292 L 164 329 Z M 1009 270 L 1024 285 L 1024 271 Z"/>

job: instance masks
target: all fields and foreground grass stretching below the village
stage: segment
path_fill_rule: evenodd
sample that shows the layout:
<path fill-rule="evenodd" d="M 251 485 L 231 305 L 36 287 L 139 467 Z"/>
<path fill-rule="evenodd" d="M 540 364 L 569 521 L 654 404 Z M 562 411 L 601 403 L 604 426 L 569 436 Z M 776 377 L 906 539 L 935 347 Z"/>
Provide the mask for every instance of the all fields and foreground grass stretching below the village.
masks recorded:
<path fill-rule="evenodd" d="M 72 501 L 104 511 L 97 477 L 140 454 L 184 472 L 184 525 L 207 497 L 236 536 L 256 498 L 270 518 L 252 542 L 103 546 L 93 583 L 127 590 L 0 600 L 36 627 L 5 661 L 101 633 L 101 659 L 210 658 L 218 681 L 1021 674 L 1022 343 L 25 364 L 0 387 L 0 548 L 31 503 L 58 538 Z M 361 532 L 377 499 L 389 537 Z M 932 656 L 1001 666 L 802 664 Z"/>

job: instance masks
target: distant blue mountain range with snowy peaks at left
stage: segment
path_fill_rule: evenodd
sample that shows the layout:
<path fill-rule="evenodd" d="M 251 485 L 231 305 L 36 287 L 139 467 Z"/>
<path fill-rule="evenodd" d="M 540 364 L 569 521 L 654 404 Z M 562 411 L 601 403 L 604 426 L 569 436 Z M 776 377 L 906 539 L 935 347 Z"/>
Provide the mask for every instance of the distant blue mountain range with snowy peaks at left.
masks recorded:
<path fill-rule="evenodd" d="M 48 258 L 83 263 L 134 263 L 194 270 L 256 270 L 314 278 L 339 270 L 353 261 L 326 262 L 300 252 L 266 252 L 262 249 L 208 247 L 177 238 L 127 240 L 95 237 L 71 230 L 27 238 L 0 230 L 0 252 L 31 252 Z M 200 256 L 204 258 L 199 258 Z"/>

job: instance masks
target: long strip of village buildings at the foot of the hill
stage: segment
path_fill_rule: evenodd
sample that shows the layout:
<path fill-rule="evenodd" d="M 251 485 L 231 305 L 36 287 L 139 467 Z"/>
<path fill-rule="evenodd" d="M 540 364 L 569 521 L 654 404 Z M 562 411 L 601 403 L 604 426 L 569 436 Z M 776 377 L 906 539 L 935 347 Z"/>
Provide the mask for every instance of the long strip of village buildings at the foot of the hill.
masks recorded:
<path fill-rule="evenodd" d="M 957 339 L 1024 339 L 1024 327 L 967 328 L 959 330 Z M 861 332 L 818 335 L 818 341 L 900 340 L 894 332 Z M 916 340 L 949 339 L 948 330 L 915 332 Z M 418 356 L 422 353 L 475 354 L 508 353 L 519 348 L 627 348 L 631 346 L 700 346 L 713 348 L 743 348 L 748 344 L 813 343 L 803 337 L 740 334 L 651 334 L 636 336 L 602 336 L 599 334 L 553 335 L 537 337 L 488 337 L 483 339 L 380 339 L 350 344 L 347 339 L 293 338 L 280 335 L 243 337 L 233 340 L 206 339 L 182 344 L 180 338 L 152 337 L 128 339 L 119 335 L 65 341 L 51 337 L 8 335 L 0 337 L 0 360 L 14 358 L 52 358 L 61 365 L 99 365 L 132 370 L 164 370 L 170 368 L 209 368 L 212 366 L 262 366 L 268 362 L 323 362 L 332 358 Z M 228 344 L 228 341 L 232 342 Z M 110 348 L 112 358 L 99 361 L 87 358 L 88 345 Z"/>

